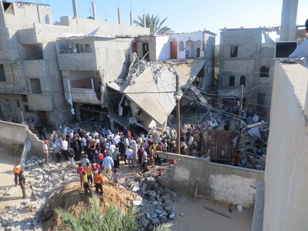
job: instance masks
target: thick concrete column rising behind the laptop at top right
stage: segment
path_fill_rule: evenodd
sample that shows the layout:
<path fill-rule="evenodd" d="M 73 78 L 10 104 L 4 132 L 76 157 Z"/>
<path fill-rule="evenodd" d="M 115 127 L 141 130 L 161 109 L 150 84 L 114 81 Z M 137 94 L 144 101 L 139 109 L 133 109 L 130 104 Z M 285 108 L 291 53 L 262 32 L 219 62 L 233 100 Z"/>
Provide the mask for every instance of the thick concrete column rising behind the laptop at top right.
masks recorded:
<path fill-rule="evenodd" d="M 297 8 L 298 0 L 283 0 L 279 38 L 280 41 L 295 40 Z"/>

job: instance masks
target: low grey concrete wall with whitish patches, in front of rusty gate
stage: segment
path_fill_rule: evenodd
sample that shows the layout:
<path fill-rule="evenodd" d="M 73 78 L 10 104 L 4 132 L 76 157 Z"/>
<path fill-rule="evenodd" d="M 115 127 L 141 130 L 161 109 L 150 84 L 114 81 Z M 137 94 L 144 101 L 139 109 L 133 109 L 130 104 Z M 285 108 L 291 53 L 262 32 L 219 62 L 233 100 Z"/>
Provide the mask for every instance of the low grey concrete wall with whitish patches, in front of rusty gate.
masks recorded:
<path fill-rule="evenodd" d="M 177 160 L 176 164 L 158 177 L 163 187 L 174 191 L 194 193 L 197 180 L 198 195 L 218 201 L 253 206 L 257 180 L 264 180 L 264 172 L 210 163 L 208 160 L 192 156 L 158 152 L 162 158 Z"/>

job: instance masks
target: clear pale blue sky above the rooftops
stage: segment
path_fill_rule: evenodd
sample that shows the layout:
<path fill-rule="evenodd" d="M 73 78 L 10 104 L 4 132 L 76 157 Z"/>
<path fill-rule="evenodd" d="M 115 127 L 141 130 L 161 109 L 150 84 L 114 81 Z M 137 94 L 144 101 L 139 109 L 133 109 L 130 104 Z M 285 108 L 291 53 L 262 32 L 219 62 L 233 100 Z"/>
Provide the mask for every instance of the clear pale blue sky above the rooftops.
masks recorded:
<path fill-rule="evenodd" d="M 39 0 L 41 3 L 51 5 L 52 18 L 60 21 L 61 16 L 73 15 L 71 0 Z M 30 0 L 29 0 L 30 2 Z M 32 0 L 32 2 L 37 2 Z M 90 16 L 92 14 L 91 2 L 89 0 L 77 0 L 79 16 Z M 161 19 L 168 17 L 164 25 L 169 26 L 176 33 L 192 32 L 207 29 L 218 36 L 216 44 L 219 44 L 220 28 L 238 28 L 244 26 L 279 26 L 281 21 L 282 0 L 96 0 L 96 8 L 99 20 L 107 19 L 110 22 L 118 22 L 117 8 L 120 5 L 122 21 L 130 23 L 129 11 L 132 6 L 134 19 L 143 12 L 157 14 Z M 297 24 L 305 24 L 308 18 L 308 0 L 299 0 Z"/>

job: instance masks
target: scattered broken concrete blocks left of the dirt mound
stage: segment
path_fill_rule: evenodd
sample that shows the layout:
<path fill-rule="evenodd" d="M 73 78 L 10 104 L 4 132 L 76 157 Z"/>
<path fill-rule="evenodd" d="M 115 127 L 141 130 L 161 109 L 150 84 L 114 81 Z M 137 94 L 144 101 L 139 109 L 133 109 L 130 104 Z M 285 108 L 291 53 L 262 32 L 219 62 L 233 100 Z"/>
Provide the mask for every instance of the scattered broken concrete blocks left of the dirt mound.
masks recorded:
<path fill-rule="evenodd" d="M 55 163 L 51 157 L 51 164 L 45 164 L 43 157 L 32 156 L 26 160 L 24 165 L 26 176 L 26 188 L 32 189 L 35 201 L 31 201 L 31 195 L 27 195 L 28 199 L 21 203 L 12 204 L 6 207 L 6 211 L 2 212 L 2 227 L 0 230 L 43 230 L 43 205 L 51 197 L 60 186 L 65 183 L 79 180 L 76 170 L 66 171 L 67 163 Z M 12 186 L 4 195 L 13 195 L 20 187 Z M 28 193 L 29 194 L 29 193 Z M 33 198 L 33 197 L 32 197 Z M 30 213 L 32 216 L 24 219 L 21 214 Z"/>

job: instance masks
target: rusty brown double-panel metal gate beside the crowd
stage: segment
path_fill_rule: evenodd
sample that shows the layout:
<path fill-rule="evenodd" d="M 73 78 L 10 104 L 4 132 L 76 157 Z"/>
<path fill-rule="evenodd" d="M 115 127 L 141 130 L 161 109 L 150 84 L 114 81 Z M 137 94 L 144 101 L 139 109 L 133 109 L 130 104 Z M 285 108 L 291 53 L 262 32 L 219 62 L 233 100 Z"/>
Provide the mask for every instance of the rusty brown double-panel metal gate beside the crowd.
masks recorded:
<path fill-rule="evenodd" d="M 211 160 L 230 160 L 232 132 L 202 130 L 201 155 L 208 153 Z"/>

